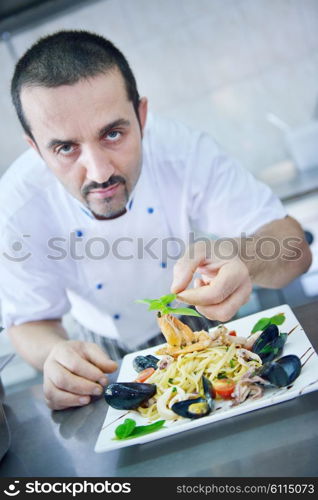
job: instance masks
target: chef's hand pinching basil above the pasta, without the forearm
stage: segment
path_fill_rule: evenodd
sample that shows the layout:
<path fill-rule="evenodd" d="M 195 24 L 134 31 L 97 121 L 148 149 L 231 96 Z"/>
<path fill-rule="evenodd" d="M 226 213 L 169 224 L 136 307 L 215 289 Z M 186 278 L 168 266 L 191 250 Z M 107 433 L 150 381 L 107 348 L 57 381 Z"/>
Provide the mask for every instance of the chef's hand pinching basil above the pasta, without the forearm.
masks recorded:
<path fill-rule="evenodd" d="M 174 267 L 171 292 L 177 293 L 182 302 L 195 305 L 207 318 L 229 321 L 248 301 L 251 278 L 247 266 L 238 257 L 207 258 L 208 250 L 201 241 L 189 247 Z M 196 272 L 201 276 L 195 279 L 195 288 L 186 290 Z"/>

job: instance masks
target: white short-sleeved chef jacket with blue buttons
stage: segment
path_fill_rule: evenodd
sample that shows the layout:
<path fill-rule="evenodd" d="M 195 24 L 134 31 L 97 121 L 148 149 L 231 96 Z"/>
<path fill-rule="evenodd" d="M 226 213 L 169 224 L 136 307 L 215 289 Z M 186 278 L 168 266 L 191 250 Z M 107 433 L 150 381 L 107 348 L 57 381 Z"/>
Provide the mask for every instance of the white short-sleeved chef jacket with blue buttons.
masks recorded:
<path fill-rule="evenodd" d="M 151 114 L 142 172 L 123 216 L 95 219 L 33 150 L 2 177 L 0 206 L 4 326 L 71 310 L 85 327 L 131 349 L 158 333 L 155 313 L 136 299 L 169 293 L 181 241 L 188 244 L 193 230 L 237 237 L 286 215 L 270 189 L 207 134 Z"/>

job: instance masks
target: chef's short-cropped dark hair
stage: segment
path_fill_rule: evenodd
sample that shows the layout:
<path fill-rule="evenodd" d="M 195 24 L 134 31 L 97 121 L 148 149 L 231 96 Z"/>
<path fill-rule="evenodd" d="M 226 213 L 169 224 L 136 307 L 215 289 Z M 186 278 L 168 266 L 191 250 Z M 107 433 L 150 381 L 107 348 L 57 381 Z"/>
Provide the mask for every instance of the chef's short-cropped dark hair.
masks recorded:
<path fill-rule="evenodd" d="M 73 85 L 113 68 L 118 68 L 124 79 L 139 121 L 135 77 L 125 56 L 112 42 L 88 31 L 59 31 L 40 38 L 18 61 L 11 82 L 12 101 L 25 132 L 32 137 L 21 105 L 23 86 Z"/>

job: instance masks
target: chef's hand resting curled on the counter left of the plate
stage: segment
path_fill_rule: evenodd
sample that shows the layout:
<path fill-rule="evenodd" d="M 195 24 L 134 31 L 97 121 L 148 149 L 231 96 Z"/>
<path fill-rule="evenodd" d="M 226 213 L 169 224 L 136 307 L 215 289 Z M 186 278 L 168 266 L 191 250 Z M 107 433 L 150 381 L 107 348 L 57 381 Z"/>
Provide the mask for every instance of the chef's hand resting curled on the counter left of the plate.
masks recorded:
<path fill-rule="evenodd" d="M 83 406 L 99 396 L 107 384 L 104 373 L 117 363 L 91 342 L 61 340 L 51 350 L 44 366 L 44 395 L 53 410 Z"/>

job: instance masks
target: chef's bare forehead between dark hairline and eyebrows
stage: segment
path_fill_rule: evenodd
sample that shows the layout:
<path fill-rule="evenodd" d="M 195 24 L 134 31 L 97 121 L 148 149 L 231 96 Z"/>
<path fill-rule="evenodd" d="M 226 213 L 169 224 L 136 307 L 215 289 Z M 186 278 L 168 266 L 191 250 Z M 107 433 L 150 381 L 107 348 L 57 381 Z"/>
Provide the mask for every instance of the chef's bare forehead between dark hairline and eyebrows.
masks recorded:
<path fill-rule="evenodd" d="M 93 130 L 128 118 L 133 110 L 117 69 L 74 85 L 25 87 L 21 102 L 32 133 L 46 137 L 81 134 L 87 127 Z"/>

